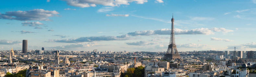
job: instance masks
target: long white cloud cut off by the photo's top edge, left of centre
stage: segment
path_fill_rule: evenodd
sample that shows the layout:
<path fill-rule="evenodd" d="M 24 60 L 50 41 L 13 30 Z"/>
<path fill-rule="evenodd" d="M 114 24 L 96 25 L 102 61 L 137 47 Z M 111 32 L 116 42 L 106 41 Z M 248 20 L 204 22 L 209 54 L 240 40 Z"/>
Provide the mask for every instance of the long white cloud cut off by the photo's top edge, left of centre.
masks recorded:
<path fill-rule="evenodd" d="M 68 5 L 75 7 L 95 7 L 96 4 L 104 6 L 118 6 L 121 4 L 129 5 L 131 2 L 136 2 L 137 4 L 143 4 L 148 2 L 147 0 L 64 0 Z"/>

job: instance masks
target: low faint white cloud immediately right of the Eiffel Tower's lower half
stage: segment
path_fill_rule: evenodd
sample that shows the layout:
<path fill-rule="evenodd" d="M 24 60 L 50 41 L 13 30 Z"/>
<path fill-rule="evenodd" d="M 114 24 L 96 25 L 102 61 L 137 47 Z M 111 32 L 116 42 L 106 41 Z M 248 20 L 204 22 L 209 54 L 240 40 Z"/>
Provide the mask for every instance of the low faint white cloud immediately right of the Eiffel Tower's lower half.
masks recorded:
<path fill-rule="evenodd" d="M 179 44 L 177 47 L 185 47 L 185 48 L 203 48 L 208 45 L 206 44 L 194 44 L 194 43 L 189 43 L 189 44 Z"/>

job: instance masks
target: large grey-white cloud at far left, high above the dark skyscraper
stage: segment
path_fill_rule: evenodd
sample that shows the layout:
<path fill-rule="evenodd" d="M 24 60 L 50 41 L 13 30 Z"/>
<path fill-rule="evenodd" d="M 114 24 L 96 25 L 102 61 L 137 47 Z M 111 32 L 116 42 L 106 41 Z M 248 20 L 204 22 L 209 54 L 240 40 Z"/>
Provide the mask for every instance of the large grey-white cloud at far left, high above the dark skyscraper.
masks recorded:
<path fill-rule="evenodd" d="M 51 21 L 49 17 L 57 16 L 57 11 L 43 9 L 33 9 L 29 11 L 9 11 L 5 14 L 0 13 L 0 19 L 19 20 L 19 21 Z"/>

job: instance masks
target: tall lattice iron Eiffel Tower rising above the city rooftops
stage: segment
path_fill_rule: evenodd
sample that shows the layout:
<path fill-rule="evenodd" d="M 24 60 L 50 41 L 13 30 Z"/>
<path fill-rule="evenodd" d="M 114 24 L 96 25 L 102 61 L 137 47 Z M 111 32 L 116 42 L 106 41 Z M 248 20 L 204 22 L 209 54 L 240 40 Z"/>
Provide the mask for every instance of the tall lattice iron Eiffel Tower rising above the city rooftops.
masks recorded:
<path fill-rule="evenodd" d="M 175 44 L 174 18 L 173 18 L 173 16 L 172 16 L 172 30 L 171 30 L 170 42 L 169 42 L 169 45 L 168 45 L 168 49 L 165 53 L 164 59 L 165 60 L 175 60 L 175 59 L 181 60 L 180 55 L 179 55 L 178 50 L 177 50 L 177 47 L 176 47 L 176 44 Z"/>

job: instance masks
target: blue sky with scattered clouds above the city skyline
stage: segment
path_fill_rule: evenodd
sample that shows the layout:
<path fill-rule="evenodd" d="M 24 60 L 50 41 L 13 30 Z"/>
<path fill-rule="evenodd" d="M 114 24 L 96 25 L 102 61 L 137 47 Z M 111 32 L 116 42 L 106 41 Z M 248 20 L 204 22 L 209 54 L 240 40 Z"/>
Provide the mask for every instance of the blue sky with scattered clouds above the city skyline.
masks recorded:
<path fill-rule="evenodd" d="M 256 50 L 256 0 L 4 0 L 0 50 Z"/>

